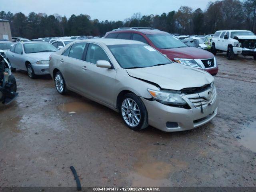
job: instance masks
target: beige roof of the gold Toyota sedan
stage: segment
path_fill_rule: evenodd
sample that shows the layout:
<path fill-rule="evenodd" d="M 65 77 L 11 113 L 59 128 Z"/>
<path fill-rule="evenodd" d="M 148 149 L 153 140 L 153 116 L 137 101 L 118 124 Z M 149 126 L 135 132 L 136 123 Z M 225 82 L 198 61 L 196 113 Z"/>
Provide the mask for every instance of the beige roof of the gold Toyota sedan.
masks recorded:
<path fill-rule="evenodd" d="M 134 41 L 134 40 L 125 40 L 125 39 L 106 39 L 106 38 L 98 38 L 98 39 L 85 39 L 85 40 L 77 40 L 77 42 L 95 42 L 100 44 L 108 45 L 122 45 L 122 44 L 144 44 L 140 41 Z"/>

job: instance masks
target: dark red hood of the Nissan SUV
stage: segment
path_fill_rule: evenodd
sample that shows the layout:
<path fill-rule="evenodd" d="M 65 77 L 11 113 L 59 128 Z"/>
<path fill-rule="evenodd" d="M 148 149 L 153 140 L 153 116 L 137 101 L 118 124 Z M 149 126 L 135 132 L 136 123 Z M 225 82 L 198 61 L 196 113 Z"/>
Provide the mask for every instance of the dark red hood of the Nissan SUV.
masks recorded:
<path fill-rule="evenodd" d="M 162 54 L 166 54 L 171 60 L 173 60 L 173 58 L 210 59 L 214 57 L 212 53 L 195 47 L 161 49 L 161 52 Z"/>

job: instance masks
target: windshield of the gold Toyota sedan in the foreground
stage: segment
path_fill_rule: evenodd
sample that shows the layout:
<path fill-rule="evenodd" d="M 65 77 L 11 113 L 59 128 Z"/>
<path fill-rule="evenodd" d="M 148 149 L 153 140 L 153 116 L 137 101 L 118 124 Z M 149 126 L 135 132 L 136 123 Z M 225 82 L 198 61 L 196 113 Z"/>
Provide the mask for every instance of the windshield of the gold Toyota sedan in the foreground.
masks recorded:
<path fill-rule="evenodd" d="M 164 55 L 147 44 L 122 44 L 108 46 L 122 68 L 144 68 L 170 64 Z"/>

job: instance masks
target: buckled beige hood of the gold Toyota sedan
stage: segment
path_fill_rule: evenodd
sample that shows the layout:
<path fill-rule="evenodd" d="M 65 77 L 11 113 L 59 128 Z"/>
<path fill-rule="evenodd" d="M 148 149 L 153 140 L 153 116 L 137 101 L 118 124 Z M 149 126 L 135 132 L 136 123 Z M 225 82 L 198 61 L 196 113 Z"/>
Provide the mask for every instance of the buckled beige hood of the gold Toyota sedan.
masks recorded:
<path fill-rule="evenodd" d="M 208 72 L 176 63 L 126 69 L 126 71 L 132 77 L 158 84 L 161 88 L 170 90 L 201 87 L 214 80 Z"/>

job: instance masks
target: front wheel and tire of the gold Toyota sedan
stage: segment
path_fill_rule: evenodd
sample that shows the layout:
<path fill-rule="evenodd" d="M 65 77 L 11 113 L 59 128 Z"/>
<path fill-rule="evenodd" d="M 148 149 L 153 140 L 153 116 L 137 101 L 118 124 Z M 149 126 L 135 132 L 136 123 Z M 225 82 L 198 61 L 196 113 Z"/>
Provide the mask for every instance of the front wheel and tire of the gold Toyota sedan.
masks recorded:
<path fill-rule="evenodd" d="M 148 127 L 148 112 L 142 100 L 133 93 L 125 94 L 119 107 L 122 120 L 130 129 L 139 131 Z"/>

